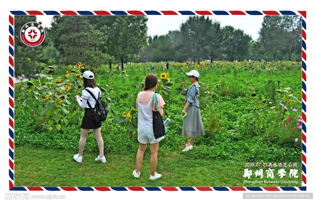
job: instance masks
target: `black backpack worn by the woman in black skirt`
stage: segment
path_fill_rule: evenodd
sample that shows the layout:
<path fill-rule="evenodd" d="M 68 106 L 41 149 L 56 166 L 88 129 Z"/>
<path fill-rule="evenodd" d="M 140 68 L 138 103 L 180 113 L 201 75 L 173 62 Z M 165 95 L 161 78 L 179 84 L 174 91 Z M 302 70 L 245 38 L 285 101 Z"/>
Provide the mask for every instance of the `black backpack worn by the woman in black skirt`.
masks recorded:
<path fill-rule="evenodd" d="M 89 101 L 87 100 L 87 104 L 90 107 L 90 110 L 91 110 L 92 115 L 93 115 L 93 120 L 95 122 L 105 121 L 106 117 L 107 117 L 107 111 L 106 111 L 107 105 L 105 104 L 105 102 L 103 100 L 101 100 L 100 91 L 99 91 L 98 99 L 96 99 L 91 91 L 89 91 L 88 89 L 84 89 L 84 90 L 86 90 L 88 93 L 90 93 L 90 95 L 96 101 L 96 103 L 94 105 L 94 110 L 93 110 Z"/>

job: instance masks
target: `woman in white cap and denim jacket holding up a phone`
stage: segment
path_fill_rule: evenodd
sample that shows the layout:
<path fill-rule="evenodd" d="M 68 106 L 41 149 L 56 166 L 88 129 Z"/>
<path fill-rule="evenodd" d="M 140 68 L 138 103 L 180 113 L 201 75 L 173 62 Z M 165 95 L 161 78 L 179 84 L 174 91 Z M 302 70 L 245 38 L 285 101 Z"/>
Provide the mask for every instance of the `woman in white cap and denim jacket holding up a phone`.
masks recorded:
<path fill-rule="evenodd" d="M 192 84 L 186 90 L 184 88 L 185 82 L 181 81 L 181 95 L 185 95 L 184 108 L 181 114 L 182 116 L 185 115 L 185 112 L 188 114 L 183 118 L 182 136 L 187 138 L 187 144 L 182 151 L 191 150 L 193 148 L 191 143 L 195 142 L 195 138 L 205 135 L 200 113 L 200 104 L 197 97 L 200 88 L 200 85 L 198 84 L 200 74 L 196 70 L 191 70 L 189 73 L 185 74 L 189 76 L 189 80 Z M 190 138 L 192 138 L 192 142 L 190 142 Z"/>

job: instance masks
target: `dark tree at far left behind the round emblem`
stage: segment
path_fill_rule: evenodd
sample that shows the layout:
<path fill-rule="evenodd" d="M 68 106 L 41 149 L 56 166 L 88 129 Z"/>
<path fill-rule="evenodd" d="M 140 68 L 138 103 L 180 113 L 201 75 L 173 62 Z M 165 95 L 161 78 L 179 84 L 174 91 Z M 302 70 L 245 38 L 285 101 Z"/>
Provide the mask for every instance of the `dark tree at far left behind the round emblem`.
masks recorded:
<path fill-rule="evenodd" d="M 22 79 L 35 79 L 38 78 L 38 75 L 41 70 L 46 66 L 48 58 L 44 56 L 43 49 L 48 44 L 48 39 L 35 47 L 29 47 L 25 45 L 20 37 L 21 27 L 28 22 L 36 22 L 35 15 L 16 15 L 14 17 L 14 74 L 16 78 Z"/>

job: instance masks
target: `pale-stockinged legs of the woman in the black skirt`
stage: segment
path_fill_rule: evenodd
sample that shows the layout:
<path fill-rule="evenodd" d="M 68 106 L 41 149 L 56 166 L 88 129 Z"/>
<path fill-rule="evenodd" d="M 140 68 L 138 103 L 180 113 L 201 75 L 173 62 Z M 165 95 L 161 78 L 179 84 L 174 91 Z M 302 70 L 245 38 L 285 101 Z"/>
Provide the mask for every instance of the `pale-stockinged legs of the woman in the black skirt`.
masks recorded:
<path fill-rule="evenodd" d="M 89 129 L 81 128 L 81 134 L 80 134 L 80 140 L 79 140 L 79 155 L 78 155 L 79 157 L 82 157 L 82 152 L 83 152 L 84 146 L 86 145 L 86 139 L 87 139 L 88 133 L 89 133 Z M 104 153 L 103 153 L 104 143 L 101 136 L 101 128 L 93 129 L 93 133 L 94 133 L 95 140 L 98 143 L 100 158 L 102 158 L 104 157 Z"/>

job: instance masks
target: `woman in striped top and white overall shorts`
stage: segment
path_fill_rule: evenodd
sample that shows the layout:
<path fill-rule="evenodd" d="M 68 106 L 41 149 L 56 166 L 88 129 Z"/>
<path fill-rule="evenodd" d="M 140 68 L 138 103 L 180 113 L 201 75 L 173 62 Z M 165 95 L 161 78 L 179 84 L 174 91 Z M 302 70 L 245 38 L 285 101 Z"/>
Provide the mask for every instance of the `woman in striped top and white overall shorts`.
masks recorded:
<path fill-rule="evenodd" d="M 133 171 L 135 177 L 139 177 L 140 168 L 143 163 L 143 155 L 147 147 L 147 143 L 150 143 L 150 175 L 149 180 L 155 180 L 161 177 L 161 174 L 156 173 L 157 166 L 157 152 L 159 141 L 164 137 L 155 139 L 153 131 L 153 113 L 152 111 L 159 110 L 161 116 L 163 114 L 162 106 L 165 105 L 161 95 L 157 94 L 158 109 L 156 107 L 156 101 L 154 100 L 154 108 L 152 108 L 152 98 L 154 90 L 157 86 L 158 78 L 155 74 L 148 74 L 145 79 L 145 89 L 138 93 L 136 100 L 136 108 L 138 110 L 138 141 L 139 147 L 136 156 L 136 170 Z"/>

